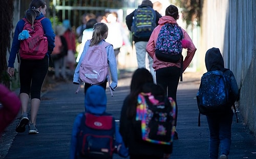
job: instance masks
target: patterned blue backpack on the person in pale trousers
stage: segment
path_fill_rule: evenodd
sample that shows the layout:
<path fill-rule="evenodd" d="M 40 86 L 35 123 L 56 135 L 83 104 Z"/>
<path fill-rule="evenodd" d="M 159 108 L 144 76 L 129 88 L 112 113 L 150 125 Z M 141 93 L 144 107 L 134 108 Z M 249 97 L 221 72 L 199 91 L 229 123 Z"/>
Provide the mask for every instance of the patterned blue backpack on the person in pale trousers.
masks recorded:
<path fill-rule="evenodd" d="M 149 38 L 156 27 L 156 11 L 151 7 L 142 7 L 134 11 L 131 27 L 132 34 L 138 38 Z"/>

